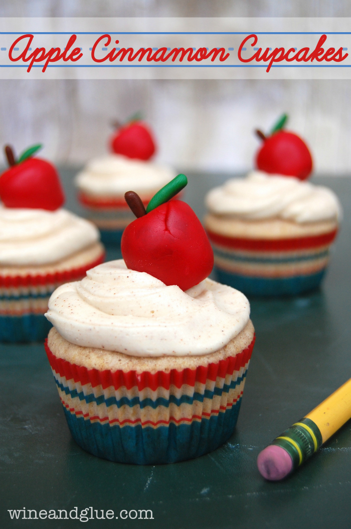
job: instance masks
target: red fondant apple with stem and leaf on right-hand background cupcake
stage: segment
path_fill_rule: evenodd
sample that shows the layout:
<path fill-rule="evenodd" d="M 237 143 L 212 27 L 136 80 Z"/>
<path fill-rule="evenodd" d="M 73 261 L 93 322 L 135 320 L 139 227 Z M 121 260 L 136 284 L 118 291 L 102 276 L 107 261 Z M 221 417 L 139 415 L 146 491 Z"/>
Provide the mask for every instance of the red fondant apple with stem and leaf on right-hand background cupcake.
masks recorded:
<path fill-rule="evenodd" d="M 270 174 L 305 180 L 312 171 L 311 153 L 300 136 L 282 130 L 286 120 L 287 116 L 282 116 L 270 136 L 258 131 L 263 145 L 256 155 L 256 165 L 261 171 Z"/>

